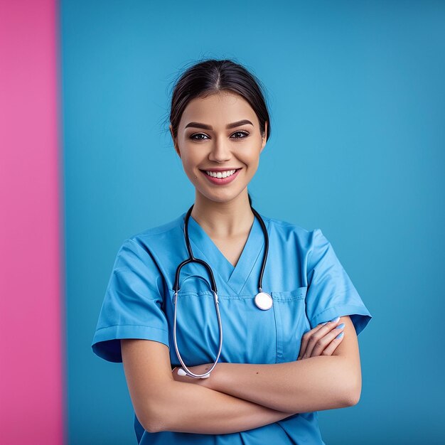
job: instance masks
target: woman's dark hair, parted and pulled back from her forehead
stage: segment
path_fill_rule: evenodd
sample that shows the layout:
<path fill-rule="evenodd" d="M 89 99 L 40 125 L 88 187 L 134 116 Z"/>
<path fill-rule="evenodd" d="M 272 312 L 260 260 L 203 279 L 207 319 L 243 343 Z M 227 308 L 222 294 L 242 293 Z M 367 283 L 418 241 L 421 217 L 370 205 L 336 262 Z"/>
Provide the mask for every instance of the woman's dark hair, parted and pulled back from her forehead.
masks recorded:
<path fill-rule="evenodd" d="M 244 97 L 257 114 L 259 131 L 262 136 L 265 133 L 267 122 L 266 140 L 270 136 L 270 118 L 267 104 L 264 100 L 264 86 L 262 82 L 244 66 L 229 59 L 207 59 L 195 63 L 179 77 L 171 96 L 170 123 L 173 138 L 178 135 L 178 126 L 181 116 L 188 102 L 205 97 L 221 90 L 235 92 Z M 252 205 L 252 198 L 249 203 Z"/>

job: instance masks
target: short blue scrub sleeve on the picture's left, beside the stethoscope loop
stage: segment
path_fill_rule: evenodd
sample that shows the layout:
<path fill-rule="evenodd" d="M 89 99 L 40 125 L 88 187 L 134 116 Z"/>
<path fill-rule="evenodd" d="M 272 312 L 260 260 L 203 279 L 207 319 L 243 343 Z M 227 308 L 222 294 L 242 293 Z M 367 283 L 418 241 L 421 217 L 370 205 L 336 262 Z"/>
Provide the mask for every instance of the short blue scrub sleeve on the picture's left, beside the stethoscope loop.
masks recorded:
<path fill-rule="evenodd" d="M 93 353 L 109 362 L 122 362 L 121 338 L 159 341 L 170 348 L 162 295 L 163 277 L 151 254 L 138 242 L 125 240 L 105 291 Z"/>

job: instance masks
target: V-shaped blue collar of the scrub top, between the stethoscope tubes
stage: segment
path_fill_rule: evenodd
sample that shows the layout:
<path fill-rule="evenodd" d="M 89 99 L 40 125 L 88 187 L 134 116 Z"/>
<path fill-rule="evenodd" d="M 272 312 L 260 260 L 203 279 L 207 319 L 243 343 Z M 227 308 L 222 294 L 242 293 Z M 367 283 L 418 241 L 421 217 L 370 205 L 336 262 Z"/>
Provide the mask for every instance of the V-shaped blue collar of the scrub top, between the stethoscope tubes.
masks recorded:
<path fill-rule="evenodd" d="M 269 219 L 264 218 L 262 215 L 260 216 L 263 218 L 266 228 L 268 228 Z M 186 213 L 183 213 L 181 218 L 182 228 L 185 219 Z M 256 216 L 254 216 L 254 222 L 252 227 L 250 227 L 249 236 L 247 237 L 247 241 L 235 267 L 233 267 L 233 264 L 223 255 L 223 252 L 219 250 L 207 232 L 205 232 L 203 227 L 198 224 L 192 215 L 188 218 L 188 237 L 191 241 L 193 256 L 207 261 L 213 270 L 213 275 L 217 275 L 220 279 L 223 279 L 223 282 L 225 282 L 232 291 L 235 291 L 235 294 L 237 295 L 242 291 L 242 288 L 250 277 L 256 262 L 262 262 L 262 257 L 264 255 L 264 253 L 262 253 L 264 247 L 264 234 Z M 222 288 L 220 289 L 220 286 L 218 286 L 218 281 L 220 281 L 218 280 L 218 277 L 215 276 L 215 280 L 218 291 L 222 290 Z M 255 286 L 258 285 L 257 282 L 255 283 Z"/>

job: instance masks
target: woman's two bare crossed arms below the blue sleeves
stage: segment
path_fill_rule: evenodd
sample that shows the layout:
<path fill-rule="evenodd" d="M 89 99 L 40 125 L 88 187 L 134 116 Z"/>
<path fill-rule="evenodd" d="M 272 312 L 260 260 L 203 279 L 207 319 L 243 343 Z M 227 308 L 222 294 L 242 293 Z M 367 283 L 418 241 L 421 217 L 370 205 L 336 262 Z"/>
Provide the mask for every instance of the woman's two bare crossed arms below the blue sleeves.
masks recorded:
<path fill-rule="evenodd" d="M 262 427 L 298 412 L 358 403 L 358 340 L 349 316 L 332 355 L 277 364 L 218 363 L 207 379 L 172 374 L 168 347 L 121 341 L 122 362 L 136 416 L 146 431 L 227 434 Z M 207 364 L 191 370 L 203 373 Z"/>

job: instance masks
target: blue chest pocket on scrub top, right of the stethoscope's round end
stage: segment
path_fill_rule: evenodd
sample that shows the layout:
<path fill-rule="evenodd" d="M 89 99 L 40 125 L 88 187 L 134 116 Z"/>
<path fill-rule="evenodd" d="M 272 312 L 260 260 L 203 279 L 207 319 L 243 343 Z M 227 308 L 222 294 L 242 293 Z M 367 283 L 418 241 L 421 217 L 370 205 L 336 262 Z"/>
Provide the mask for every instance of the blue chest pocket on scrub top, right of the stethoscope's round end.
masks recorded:
<path fill-rule="evenodd" d="M 277 328 L 277 363 L 296 360 L 301 337 L 311 329 L 306 316 L 307 287 L 272 292 Z"/>

